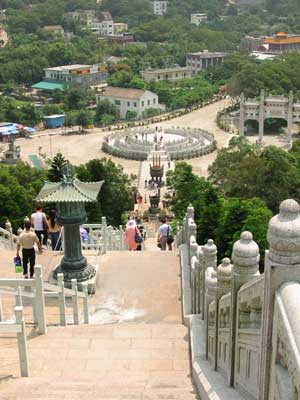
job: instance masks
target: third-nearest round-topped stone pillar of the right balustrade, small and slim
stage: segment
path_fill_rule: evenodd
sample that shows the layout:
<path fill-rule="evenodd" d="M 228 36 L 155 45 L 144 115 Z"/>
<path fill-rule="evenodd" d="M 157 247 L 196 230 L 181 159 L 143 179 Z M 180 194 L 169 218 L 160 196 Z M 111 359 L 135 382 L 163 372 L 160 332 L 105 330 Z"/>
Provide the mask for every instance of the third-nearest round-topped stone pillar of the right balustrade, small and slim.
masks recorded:
<path fill-rule="evenodd" d="M 231 291 L 233 265 L 229 258 L 223 258 L 222 264 L 217 268 L 216 290 L 216 319 L 215 319 L 215 360 L 214 368 L 218 369 L 218 331 L 219 331 L 219 301 L 222 296 Z"/>

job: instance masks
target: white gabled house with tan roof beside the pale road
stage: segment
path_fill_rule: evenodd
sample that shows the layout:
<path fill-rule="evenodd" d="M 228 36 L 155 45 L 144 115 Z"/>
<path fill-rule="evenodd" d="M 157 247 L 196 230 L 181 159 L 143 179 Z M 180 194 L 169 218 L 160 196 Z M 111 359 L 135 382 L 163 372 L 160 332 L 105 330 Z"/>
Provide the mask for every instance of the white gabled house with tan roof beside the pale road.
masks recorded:
<path fill-rule="evenodd" d="M 136 112 L 137 118 L 143 117 L 143 112 L 149 108 L 158 108 L 165 111 L 165 106 L 159 104 L 157 94 L 149 90 L 124 89 L 108 87 L 97 95 L 97 101 L 109 100 L 120 111 L 120 117 L 126 118 L 127 112 Z"/>

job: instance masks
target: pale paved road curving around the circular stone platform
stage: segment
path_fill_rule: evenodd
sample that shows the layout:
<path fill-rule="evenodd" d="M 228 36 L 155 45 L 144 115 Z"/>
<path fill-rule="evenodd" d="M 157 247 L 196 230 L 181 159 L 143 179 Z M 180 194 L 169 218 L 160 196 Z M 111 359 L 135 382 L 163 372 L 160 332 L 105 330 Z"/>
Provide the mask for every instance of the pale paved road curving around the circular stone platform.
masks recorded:
<path fill-rule="evenodd" d="M 161 125 L 182 126 L 191 128 L 202 128 L 215 135 L 218 147 L 226 146 L 231 135 L 220 130 L 216 125 L 216 115 L 218 111 L 228 104 L 228 100 L 210 104 L 199 110 L 183 115 L 173 120 L 162 123 Z M 57 152 L 62 152 L 74 165 L 79 165 L 99 157 L 108 157 L 101 151 L 101 144 L 107 132 L 94 129 L 92 133 L 86 135 L 60 135 L 61 129 L 52 131 L 42 131 L 30 139 L 18 139 L 17 143 L 21 146 L 21 157 L 24 161 L 29 161 L 29 156 L 39 154 L 39 151 L 50 158 Z M 206 176 L 207 167 L 213 162 L 217 152 L 208 154 L 204 157 L 188 160 L 193 166 L 195 173 Z M 128 174 L 138 174 L 138 161 L 124 160 L 111 157 L 117 164 L 122 165 Z"/>

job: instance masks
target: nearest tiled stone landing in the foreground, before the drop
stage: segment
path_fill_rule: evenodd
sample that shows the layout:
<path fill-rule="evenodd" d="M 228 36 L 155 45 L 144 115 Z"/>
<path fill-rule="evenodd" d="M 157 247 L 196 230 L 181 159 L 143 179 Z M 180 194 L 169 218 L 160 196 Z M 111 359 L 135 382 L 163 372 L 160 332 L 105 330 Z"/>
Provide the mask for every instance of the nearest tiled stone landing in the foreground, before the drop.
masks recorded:
<path fill-rule="evenodd" d="M 180 324 L 50 327 L 28 335 L 30 378 L 20 378 L 16 343 L 0 349 L 0 399 L 197 399 L 187 328 Z M 4 361 L 5 360 L 5 361 Z"/>

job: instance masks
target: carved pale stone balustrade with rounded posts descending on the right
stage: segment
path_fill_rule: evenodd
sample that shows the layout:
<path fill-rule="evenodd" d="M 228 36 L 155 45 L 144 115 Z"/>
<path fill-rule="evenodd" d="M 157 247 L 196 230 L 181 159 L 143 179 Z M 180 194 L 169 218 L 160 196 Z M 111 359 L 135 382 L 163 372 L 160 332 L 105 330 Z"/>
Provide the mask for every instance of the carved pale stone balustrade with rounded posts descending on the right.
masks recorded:
<path fill-rule="evenodd" d="M 189 321 L 195 317 L 197 324 L 203 324 L 195 332 L 204 337 L 195 338 L 191 332 L 193 342 L 205 343 L 204 357 L 225 378 L 224 387 L 231 386 L 249 399 L 299 398 L 299 212 L 296 201 L 285 200 L 270 220 L 263 275 L 251 232 L 243 232 L 234 243 L 232 263 L 224 258 L 219 266 L 213 240 L 197 243 L 191 205 L 177 234 L 184 321 L 192 331 L 195 322 Z M 200 361 L 193 368 L 193 374 L 201 370 Z"/>

